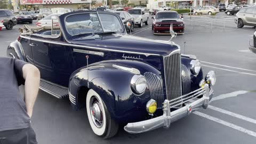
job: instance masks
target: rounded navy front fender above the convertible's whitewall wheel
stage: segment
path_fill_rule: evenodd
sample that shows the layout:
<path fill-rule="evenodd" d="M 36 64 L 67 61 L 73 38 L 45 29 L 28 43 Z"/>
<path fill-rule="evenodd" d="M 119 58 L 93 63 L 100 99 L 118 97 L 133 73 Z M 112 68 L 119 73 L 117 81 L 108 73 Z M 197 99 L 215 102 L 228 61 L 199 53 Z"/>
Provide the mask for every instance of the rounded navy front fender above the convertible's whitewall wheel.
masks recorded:
<path fill-rule="evenodd" d="M 135 95 L 131 89 L 131 79 L 134 74 L 115 68 L 113 65 L 136 68 L 141 75 L 146 71 L 160 75 L 157 69 L 140 61 L 110 60 L 93 63 L 88 68 L 76 70 L 70 77 L 69 97 L 71 97 L 72 106 L 75 109 L 81 108 L 78 92 L 81 87 L 87 87 L 100 95 L 110 115 L 116 121 L 132 122 L 145 118 L 146 102 L 150 99 L 149 90 L 146 89 L 142 95 Z"/>

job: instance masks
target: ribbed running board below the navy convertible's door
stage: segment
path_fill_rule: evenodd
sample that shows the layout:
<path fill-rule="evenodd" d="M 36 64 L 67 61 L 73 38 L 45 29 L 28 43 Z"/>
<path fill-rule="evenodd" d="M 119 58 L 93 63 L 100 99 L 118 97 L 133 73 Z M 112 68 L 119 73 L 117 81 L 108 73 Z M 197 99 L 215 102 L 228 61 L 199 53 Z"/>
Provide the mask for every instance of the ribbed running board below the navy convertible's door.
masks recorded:
<path fill-rule="evenodd" d="M 63 99 L 68 97 L 68 88 L 41 79 L 39 89 L 51 94 L 53 97 Z"/>

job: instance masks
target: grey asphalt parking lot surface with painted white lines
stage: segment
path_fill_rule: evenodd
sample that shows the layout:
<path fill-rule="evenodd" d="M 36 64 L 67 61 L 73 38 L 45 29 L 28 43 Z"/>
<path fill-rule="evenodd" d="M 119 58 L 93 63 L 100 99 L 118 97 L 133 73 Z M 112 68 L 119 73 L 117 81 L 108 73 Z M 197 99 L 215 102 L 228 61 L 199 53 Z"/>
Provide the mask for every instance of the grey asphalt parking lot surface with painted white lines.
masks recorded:
<path fill-rule="evenodd" d="M 120 127 L 114 138 L 104 140 L 92 132 L 85 109 L 73 111 L 68 100 L 39 91 L 32 117 L 38 143 L 255 143 L 256 54 L 248 49 L 254 28 L 237 29 L 230 22 L 225 28 L 214 25 L 213 30 L 207 31 L 202 25 L 198 22 L 194 29 L 185 18 L 185 34 L 178 35 L 174 42 L 182 53 L 196 55 L 205 73 L 217 73 L 214 98 L 208 109 L 172 123 L 167 130 L 133 135 Z M 0 55 L 5 55 L 7 45 L 17 39 L 19 27 L 22 25 L 0 31 Z M 132 35 L 170 39 L 169 35 L 153 35 L 151 25 L 135 27 Z"/>

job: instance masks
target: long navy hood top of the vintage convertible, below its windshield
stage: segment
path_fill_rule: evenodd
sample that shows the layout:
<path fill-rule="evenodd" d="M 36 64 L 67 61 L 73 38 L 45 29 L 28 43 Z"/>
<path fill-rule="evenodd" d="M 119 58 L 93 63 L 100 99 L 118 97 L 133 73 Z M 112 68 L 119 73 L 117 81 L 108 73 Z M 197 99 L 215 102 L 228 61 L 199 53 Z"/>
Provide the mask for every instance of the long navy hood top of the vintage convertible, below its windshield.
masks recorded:
<path fill-rule="evenodd" d="M 152 41 L 130 35 L 101 34 L 73 39 L 71 44 L 92 47 L 103 50 L 120 52 L 135 52 L 145 55 L 168 55 L 179 49 L 179 46 L 165 41 Z"/>

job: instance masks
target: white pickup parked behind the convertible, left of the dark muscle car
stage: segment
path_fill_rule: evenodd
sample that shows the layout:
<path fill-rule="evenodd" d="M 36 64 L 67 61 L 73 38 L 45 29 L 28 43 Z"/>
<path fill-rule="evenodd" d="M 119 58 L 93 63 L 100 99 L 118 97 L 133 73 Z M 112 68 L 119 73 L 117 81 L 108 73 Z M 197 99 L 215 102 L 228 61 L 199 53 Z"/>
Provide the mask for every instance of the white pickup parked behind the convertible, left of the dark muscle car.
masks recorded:
<path fill-rule="evenodd" d="M 135 25 L 139 25 L 139 27 L 143 27 L 143 23 L 148 25 L 149 13 L 145 9 L 130 9 L 127 12 L 134 18 Z"/>

